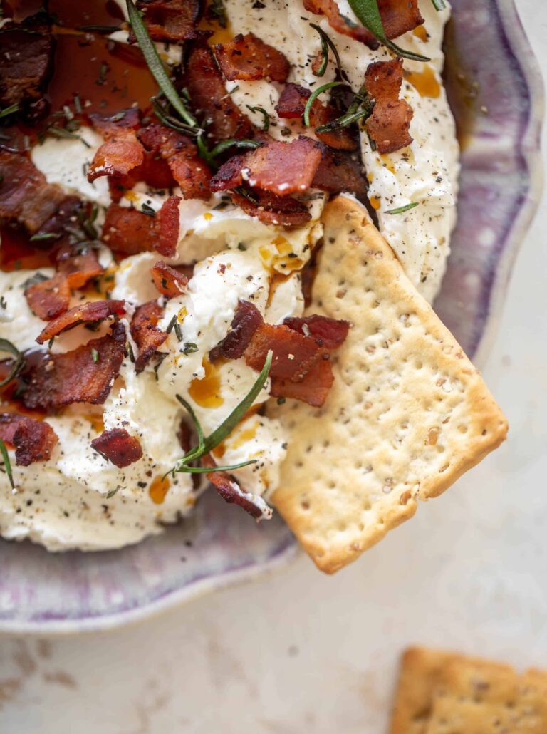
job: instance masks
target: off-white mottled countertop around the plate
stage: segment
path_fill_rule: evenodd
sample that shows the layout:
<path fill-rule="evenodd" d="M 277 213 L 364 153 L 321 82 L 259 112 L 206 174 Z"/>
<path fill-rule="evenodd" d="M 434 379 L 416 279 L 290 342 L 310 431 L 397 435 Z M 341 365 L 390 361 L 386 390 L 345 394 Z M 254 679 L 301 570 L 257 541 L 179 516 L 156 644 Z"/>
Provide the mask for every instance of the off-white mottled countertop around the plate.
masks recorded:
<path fill-rule="evenodd" d="M 517 4 L 547 68 L 547 6 Z M 121 631 L 0 638 L 0 732 L 381 734 L 408 644 L 547 668 L 546 231 L 544 198 L 484 370 L 496 454 L 332 578 L 301 557 Z"/>

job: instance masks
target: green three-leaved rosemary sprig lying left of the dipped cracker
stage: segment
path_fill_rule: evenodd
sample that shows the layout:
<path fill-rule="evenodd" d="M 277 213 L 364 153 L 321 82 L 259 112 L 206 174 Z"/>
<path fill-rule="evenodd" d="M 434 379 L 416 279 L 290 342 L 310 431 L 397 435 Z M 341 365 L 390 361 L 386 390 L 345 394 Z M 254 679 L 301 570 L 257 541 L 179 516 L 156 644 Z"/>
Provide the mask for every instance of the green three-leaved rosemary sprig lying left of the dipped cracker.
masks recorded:
<path fill-rule="evenodd" d="M 187 451 L 184 457 L 182 459 L 179 459 L 172 470 L 168 471 L 167 474 L 208 474 L 214 471 L 234 471 L 236 469 L 241 469 L 244 466 L 249 466 L 249 464 L 256 464 L 257 460 L 251 459 L 250 461 L 241 462 L 241 464 L 235 464 L 232 466 L 216 466 L 212 468 L 190 466 L 192 462 L 196 462 L 198 459 L 201 459 L 201 457 L 205 456 L 205 454 L 209 454 L 210 451 L 213 451 L 213 448 L 219 446 L 219 443 L 222 443 L 222 441 L 224 441 L 224 439 L 228 435 L 230 435 L 233 429 L 235 429 L 235 426 L 238 425 L 238 423 L 241 421 L 241 418 L 243 418 L 243 416 L 254 403 L 254 400 L 257 398 L 260 390 L 263 389 L 266 380 L 268 379 L 268 374 L 270 373 L 271 360 L 273 356 L 274 353 L 270 349 L 268 351 L 268 355 L 266 357 L 262 371 L 260 371 L 260 374 L 257 377 L 256 382 L 254 382 L 252 388 L 243 398 L 241 403 L 239 403 L 234 408 L 234 410 L 232 410 L 232 413 L 228 415 L 226 420 L 223 421 L 220 426 L 216 430 L 214 430 L 213 433 L 211 433 L 208 437 L 204 437 L 202 426 L 199 423 L 197 415 L 194 413 L 191 404 L 189 404 L 182 396 L 177 395 L 177 400 L 180 402 L 181 405 L 183 405 L 183 407 L 186 408 L 188 414 L 190 415 L 190 418 L 192 419 L 192 422 L 194 423 L 194 427 L 197 433 L 198 445 Z M 165 476 L 167 476 L 167 474 Z"/>

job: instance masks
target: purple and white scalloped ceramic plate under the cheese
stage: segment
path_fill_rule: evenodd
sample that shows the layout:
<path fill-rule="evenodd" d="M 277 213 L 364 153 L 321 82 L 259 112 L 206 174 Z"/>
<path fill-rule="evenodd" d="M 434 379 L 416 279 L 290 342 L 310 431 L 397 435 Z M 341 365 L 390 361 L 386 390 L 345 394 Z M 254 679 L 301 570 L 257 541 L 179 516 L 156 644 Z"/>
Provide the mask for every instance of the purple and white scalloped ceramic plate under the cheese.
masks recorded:
<path fill-rule="evenodd" d="M 479 362 L 539 200 L 543 86 L 513 0 L 452 0 L 447 89 L 462 134 L 458 226 L 436 310 Z M 47 553 L 0 541 L 0 631 L 111 628 L 273 570 L 296 553 L 279 517 L 257 526 L 213 493 L 131 548 Z"/>

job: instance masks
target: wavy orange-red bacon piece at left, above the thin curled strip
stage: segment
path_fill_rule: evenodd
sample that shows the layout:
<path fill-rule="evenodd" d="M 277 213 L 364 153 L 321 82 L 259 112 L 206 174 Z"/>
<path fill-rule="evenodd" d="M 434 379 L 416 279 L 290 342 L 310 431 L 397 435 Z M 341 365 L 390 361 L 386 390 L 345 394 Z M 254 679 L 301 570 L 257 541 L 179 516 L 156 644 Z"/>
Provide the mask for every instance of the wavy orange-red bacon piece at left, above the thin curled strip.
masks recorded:
<path fill-rule="evenodd" d="M 92 250 L 72 255 L 60 261 L 54 277 L 26 288 L 26 301 L 39 319 L 56 319 L 69 307 L 71 289 L 81 288 L 102 272 L 103 267 Z"/>

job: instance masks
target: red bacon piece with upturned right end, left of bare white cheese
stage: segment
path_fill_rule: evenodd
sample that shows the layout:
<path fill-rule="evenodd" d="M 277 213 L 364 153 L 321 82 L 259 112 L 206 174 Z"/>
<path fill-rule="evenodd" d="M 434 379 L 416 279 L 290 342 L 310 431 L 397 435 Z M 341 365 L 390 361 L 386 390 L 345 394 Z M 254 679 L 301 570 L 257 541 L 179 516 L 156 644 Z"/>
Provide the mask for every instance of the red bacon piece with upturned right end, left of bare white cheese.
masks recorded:
<path fill-rule="evenodd" d="M 172 257 L 180 230 L 179 203 L 180 196 L 170 196 L 155 217 L 112 203 L 106 210 L 103 240 L 111 250 L 127 255 L 158 250 L 161 255 Z"/>

